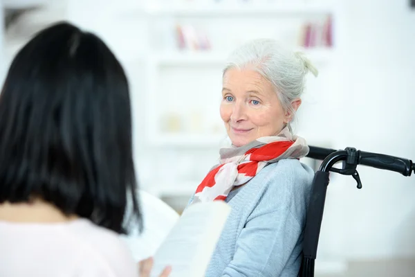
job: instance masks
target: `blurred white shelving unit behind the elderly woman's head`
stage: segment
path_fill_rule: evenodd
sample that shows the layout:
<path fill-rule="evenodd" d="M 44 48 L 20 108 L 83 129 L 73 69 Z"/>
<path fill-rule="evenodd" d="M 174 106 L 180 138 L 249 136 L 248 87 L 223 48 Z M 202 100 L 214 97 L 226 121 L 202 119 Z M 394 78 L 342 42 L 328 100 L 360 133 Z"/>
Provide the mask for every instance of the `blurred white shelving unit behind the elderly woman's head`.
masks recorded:
<path fill-rule="evenodd" d="M 186 99 L 189 97 L 197 98 L 198 101 L 205 101 L 205 105 L 209 107 L 210 111 L 213 105 L 218 105 L 219 102 L 214 102 L 212 93 L 216 93 L 220 97 L 220 82 L 221 70 L 225 65 L 230 49 L 237 46 L 246 39 L 256 37 L 255 28 L 250 28 L 243 33 L 242 25 L 252 21 L 252 24 L 257 24 L 258 30 L 264 29 L 268 26 L 269 30 L 259 32 L 259 37 L 280 37 L 277 33 L 273 33 L 274 26 L 277 26 L 280 33 L 288 28 L 287 33 L 293 34 L 292 27 L 299 25 L 299 21 L 306 22 L 310 19 L 325 18 L 331 15 L 335 17 L 335 6 L 332 3 L 324 3 L 322 1 L 261 1 L 241 3 L 232 1 L 222 1 L 221 3 L 212 3 L 208 1 L 190 1 L 187 3 L 178 3 L 178 1 L 158 2 L 148 1 L 148 4 L 142 10 L 136 10 L 124 14 L 127 15 L 144 15 L 147 19 L 148 27 L 148 46 L 147 53 L 144 60 L 146 64 L 145 72 L 147 73 L 146 80 L 146 135 L 147 142 L 150 147 L 154 148 L 217 148 L 225 137 L 223 132 L 205 132 L 203 134 L 195 134 L 186 130 L 179 130 L 176 132 L 164 132 L 160 129 L 163 116 L 160 113 L 165 113 L 166 110 L 172 110 L 180 113 L 185 108 L 181 105 L 175 105 L 174 99 L 171 98 L 172 93 L 181 93 L 177 98 Z M 295 24 L 290 24 L 295 19 Z M 284 24 L 277 24 L 279 20 L 284 21 Z M 261 21 L 256 23 L 257 21 Z M 288 23 L 287 23 L 288 22 Z M 211 28 L 207 31 L 214 41 L 214 45 L 209 50 L 187 50 L 176 47 L 177 41 L 174 35 L 174 28 L 181 24 L 194 24 L 199 28 Z M 214 26 L 214 27 L 212 27 Z M 245 25 L 246 26 L 246 25 Z M 290 29 L 291 28 L 291 29 Z M 297 30 L 298 31 L 298 30 Z M 239 32 L 240 35 L 235 35 Z M 268 33 L 267 33 L 268 32 Z M 230 35 L 233 35 L 230 38 Z M 215 40 L 216 39 L 216 40 Z M 222 43 L 223 39 L 228 39 L 229 42 Z M 282 38 L 284 42 L 284 38 Z M 320 65 L 328 64 L 335 51 L 333 48 L 315 47 L 304 48 L 296 46 L 298 50 L 302 50 L 310 57 L 310 59 Z M 197 72 L 200 72 L 199 75 Z M 189 74 L 189 80 L 170 80 L 169 76 L 181 72 L 183 77 Z M 216 74 L 216 78 L 210 77 Z M 199 87 L 198 81 L 199 80 Z M 167 85 L 166 83 L 169 82 Z M 185 87 L 187 82 L 192 82 L 194 87 L 197 87 L 197 96 L 192 95 L 190 88 Z M 180 88 L 183 84 L 183 89 Z M 212 84 L 209 87 L 208 84 Z M 164 94 L 163 94 L 164 93 Z M 169 98 L 170 97 L 170 98 Z M 206 97 L 206 98 L 205 98 Z M 208 99 L 209 98 L 209 99 Z M 160 105 L 160 99 L 169 102 L 171 107 Z M 219 100 L 219 98 L 218 98 Z M 216 104 L 215 104 L 216 103 Z M 201 109 L 200 109 L 201 110 Z M 211 114 L 206 111 L 205 115 Z M 218 109 L 216 111 L 219 114 Z M 203 114 L 203 111 L 201 111 Z M 191 115 L 184 115 L 183 117 L 190 117 Z M 167 116 L 169 118 L 169 116 Z M 216 119 L 215 119 L 216 120 Z M 219 120 L 218 120 L 219 121 Z M 219 125 L 219 123 L 218 123 Z M 196 132 L 197 133 L 197 132 Z"/>

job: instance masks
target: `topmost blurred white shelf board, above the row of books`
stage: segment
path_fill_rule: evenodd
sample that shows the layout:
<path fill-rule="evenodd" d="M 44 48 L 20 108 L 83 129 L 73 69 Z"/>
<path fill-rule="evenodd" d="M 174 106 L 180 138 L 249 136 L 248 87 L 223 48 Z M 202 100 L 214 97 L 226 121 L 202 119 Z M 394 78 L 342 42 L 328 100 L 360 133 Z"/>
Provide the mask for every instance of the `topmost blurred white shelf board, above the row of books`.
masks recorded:
<path fill-rule="evenodd" d="M 275 16 L 275 15 L 326 15 L 333 12 L 331 5 L 310 3 L 275 3 L 257 5 L 241 3 L 239 5 L 201 6 L 179 5 L 148 7 L 145 13 L 150 16 L 176 17 L 241 17 L 241 16 Z"/>

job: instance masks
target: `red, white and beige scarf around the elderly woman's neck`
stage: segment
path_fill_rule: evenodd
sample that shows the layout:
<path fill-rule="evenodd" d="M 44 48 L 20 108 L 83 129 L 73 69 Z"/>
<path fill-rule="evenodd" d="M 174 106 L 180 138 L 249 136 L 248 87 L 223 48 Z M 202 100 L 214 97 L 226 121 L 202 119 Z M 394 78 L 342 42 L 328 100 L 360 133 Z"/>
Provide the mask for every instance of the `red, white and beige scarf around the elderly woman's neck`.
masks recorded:
<path fill-rule="evenodd" d="M 198 186 L 192 204 L 225 200 L 234 186 L 246 184 L 268 163 L 300 159 L 308 154 L 308 150 L 306 141 L 291 135 L 288 127 L 277 136 L 265 136 L 239 148 L 221 148 L 219 165 Z"/>

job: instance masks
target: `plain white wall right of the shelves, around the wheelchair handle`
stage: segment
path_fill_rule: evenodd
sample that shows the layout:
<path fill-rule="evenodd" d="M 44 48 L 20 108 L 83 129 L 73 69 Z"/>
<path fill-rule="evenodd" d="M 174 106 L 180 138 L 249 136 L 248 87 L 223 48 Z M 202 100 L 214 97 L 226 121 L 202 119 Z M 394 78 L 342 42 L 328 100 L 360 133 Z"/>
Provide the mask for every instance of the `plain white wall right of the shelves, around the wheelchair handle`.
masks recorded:
<path fill-rule="evenodd" d="M 344 82 L 333 91 L 344 103 L 339 143 L 415 160 L 415 10 L 407 0 L 347 0 L 342 6 Z M 353 259 L 415 257 L 415 176 L 358 171 L 362 190 L 351 177 L 329 188 L 327 251 Z"/>

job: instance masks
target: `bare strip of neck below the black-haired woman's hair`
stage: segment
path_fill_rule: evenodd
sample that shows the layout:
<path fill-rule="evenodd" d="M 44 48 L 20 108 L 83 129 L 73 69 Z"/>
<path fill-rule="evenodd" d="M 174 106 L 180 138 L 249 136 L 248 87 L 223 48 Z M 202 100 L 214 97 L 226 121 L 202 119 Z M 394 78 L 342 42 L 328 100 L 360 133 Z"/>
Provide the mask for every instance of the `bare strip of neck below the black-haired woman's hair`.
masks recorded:
<path fill-rule="evenodd" d="M 65 215 L 59 208 L 44 202 L 34 200 L 30 203 L 0 204 L 0 220 L 7 222 L 68 222 L 77 219 L 76 215 Z"/>

